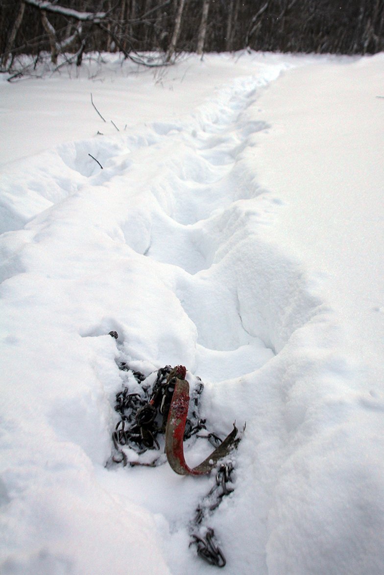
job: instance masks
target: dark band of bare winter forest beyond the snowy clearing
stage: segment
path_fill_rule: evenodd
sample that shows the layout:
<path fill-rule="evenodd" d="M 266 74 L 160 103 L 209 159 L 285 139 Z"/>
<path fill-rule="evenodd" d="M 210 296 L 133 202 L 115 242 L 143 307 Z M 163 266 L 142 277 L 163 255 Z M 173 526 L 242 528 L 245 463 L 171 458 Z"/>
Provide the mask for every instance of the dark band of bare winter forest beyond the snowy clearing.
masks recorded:
<path fill-rule="evenodd" d="M 57 62 L 120 51 L 149 64 L 179 52 L 366 54 L 384 51 L 384 0 L 1 0 L 2 70 L 21 53 Z"/>

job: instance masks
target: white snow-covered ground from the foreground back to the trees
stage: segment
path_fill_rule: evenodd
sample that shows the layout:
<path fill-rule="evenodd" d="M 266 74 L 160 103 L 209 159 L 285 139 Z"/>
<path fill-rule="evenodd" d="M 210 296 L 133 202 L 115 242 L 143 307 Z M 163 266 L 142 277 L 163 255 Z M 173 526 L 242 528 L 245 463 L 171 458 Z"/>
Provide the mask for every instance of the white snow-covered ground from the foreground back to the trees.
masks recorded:
<path fill-rule="evenodd" d="M 1 573 L 216 571 L 214 477 L 106 467 L 121 360 L 247 422 L 225 573 L 384 573 L 384 54 L 104 59 L 0 82 Z"/>

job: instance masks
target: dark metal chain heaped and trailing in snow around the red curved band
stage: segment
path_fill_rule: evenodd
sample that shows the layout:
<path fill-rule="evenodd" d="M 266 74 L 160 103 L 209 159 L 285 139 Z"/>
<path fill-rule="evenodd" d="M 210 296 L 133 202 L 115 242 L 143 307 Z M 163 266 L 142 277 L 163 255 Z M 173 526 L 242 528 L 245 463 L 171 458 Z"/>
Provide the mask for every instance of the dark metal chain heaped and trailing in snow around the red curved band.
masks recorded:
<path fill-rule="evenodd" d="M 110 332 L 113 338 L 117 339 L 117 332 Z M 168 411 L 174 392 L 174 382 L 172 378 L 168 379 L 171 374 L 171 366 L 165 366 L 158 370 L 156 380 L 153 385 L 145 385 L 145 375 L 140 371 L 134 371 L 129 368 L 125 362 L 120 362 L 118 367 L 122 371 L 130 371 L 136 381 L 140 384 L 141 393 L 129 392 L 125 387 L 116 394 L 115 411 L 120 415 L 120 421 L 116 424 L 112 439 L 116 449 L 116 454 L 112 457 L 115 463 L 127 465 L 128 458 L 123 448 L 128 446 L 134 448 L 141 455 L 148 449 L 160 450 L 160 444 L 156 436 L 164 432 Z M 209 432 L 205 435 L 201 431 L 207 431 L 206 420 L 199 416 L 198 403 L 199 396 L 203 390 L 203 384 L 200 384 L 193 390 L 190 397 L 190 404 L 194 409 L 186 421 L 184 439 L 192 436 L 206 438 L 214 447 L 222 443 L 218 435 Z M 156 466 L 156 461 L 151 463 L 129 462 L 129 465 L 145 465 L 149 467 Z M 209 565 L 224 567 L 226 559 L 222 553 L 214 530 L 212 527 L 203 526 L 206 515 L 212 514 L 220 505 L 222 498 L 233 492 L 231 474 L 233 464 L 231 461 L 221 463 L 217 468 L 215 483 L 206 494 L 202 502 L 195 511 L 193 523 L 190 524 L 191 545 L 196 546 L 197 554 L 204 559 Z"/>

